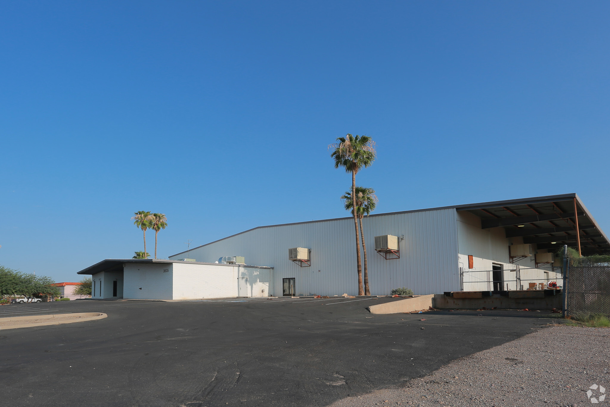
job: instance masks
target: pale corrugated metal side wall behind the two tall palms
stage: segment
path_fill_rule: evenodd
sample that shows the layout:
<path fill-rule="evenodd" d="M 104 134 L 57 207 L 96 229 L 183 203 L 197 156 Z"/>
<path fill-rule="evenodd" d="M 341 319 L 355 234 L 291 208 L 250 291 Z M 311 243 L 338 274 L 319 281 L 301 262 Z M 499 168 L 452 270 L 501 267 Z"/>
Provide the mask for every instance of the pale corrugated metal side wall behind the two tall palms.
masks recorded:
<path fill-rule="evenodd" d="M 390 214 L 364 219 L 371 294 L 390 294 L 409 287 L 417 294 L 459 289 L 458 239 L 455 209 Z M 375 252 L 375 236 L 404 235 L 401 258 L 385 260 Z M 214 262 L 221 256 L 245 256 L 246 263 L 274 267 L 270 287 L 281 295 L 282 278 L 296 279 L 300 295 L 357 294 L 356 247 L 351 219 L 274 226 L 249 231 L 204 247 L 188 256 Z M 288 259 L 288 249 L 312 250 L 311 267 Z M 172 256 L 178 259 L 180 256 Z"/>

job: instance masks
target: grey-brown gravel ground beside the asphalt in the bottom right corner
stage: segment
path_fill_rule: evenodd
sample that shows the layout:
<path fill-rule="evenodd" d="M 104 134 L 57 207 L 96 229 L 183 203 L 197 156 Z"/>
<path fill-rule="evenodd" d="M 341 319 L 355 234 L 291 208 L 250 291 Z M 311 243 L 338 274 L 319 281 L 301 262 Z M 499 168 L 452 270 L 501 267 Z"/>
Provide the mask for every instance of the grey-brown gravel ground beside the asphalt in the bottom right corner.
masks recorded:
<path fill-rule="evenodd" d="M 593 384 L 608 388 L 610 396 L 609 359 L 608 328 L 548 326 L 456 359 L 400 389 L 344 398 L 331 407 L 586 406 Z M 592 390 L 591 397 L 601 390 Z"/>

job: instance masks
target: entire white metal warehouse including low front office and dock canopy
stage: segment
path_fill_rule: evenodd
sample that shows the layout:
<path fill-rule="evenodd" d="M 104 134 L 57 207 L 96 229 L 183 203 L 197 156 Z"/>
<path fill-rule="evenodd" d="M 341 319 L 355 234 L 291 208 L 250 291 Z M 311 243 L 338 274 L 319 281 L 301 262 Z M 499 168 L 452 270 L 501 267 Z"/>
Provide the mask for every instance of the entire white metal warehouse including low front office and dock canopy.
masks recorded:
<path fill-rule="evenodd" d="M 551 253 L 564 244 L 610 251 L 575 193 L 375 214 L 364 235 L 373 295 L 523 289 L 520 267 L 534 284 L 559 277 Z M 106 260 L 79 273 L 93 275 L 97 298 L 356 294 L 354 243 L 351 217 L 260 226 L 169 261 Z"/>

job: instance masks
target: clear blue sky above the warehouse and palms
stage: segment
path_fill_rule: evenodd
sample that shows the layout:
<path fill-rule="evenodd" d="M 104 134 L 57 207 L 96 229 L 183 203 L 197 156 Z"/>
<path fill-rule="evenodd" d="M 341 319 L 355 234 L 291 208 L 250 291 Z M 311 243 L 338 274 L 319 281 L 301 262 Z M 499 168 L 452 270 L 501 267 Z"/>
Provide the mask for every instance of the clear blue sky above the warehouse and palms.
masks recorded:
<path fill-rule="evenodd" d="M 378 145 L 378 213 L 576 192 L 610 232 L 606 1 L 5 1 L 0 264 L 77 281 L 348 215 L 327 145 Z M 154 249 L 154 233 L 148 234 Z M 232 253 L 226 253 L 231 255 Z"/>

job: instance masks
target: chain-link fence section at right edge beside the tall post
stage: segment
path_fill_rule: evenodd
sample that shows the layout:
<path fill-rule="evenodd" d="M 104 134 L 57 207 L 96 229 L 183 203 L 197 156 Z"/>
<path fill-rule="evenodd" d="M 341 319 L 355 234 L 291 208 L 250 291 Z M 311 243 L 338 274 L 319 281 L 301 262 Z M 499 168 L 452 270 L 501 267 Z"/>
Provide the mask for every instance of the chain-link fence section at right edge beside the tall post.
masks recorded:
<path fill-rule="evenodd" d="M 567 287 L 570 315 L 610 315 L 610 266 L 570 267 Z"/>

